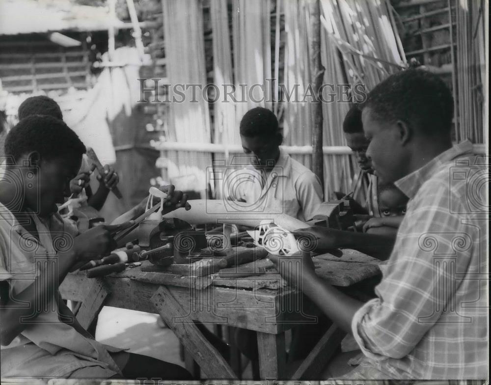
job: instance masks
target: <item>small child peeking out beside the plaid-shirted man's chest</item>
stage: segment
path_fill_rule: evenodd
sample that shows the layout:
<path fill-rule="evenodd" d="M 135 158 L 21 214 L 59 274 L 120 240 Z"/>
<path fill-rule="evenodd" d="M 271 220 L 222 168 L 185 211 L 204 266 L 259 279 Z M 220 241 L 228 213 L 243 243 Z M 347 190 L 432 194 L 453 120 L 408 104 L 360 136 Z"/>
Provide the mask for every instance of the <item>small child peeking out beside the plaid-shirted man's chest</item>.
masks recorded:
<path fill-rule="evenodd" d="M 379 182 L 380 218 L 371 218 L 363 226 L 370 234 L 395 235 L 406 214 L 409 198 L 392 183 Z"/>

